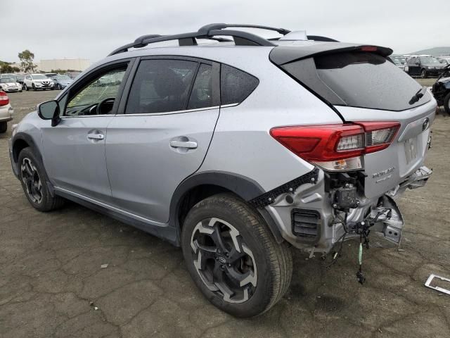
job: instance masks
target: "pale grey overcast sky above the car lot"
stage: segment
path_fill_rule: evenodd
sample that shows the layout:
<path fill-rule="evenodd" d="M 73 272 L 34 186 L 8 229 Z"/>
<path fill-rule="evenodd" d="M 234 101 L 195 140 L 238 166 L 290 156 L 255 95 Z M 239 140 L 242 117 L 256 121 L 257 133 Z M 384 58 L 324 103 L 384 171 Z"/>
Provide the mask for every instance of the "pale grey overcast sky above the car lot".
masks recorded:
<path fill-rule="evenodd" d="M 30 49 L 35 62 L 94 62 L 140 35 L 191 32 L 207 23 L 307 30 L 401 54 L 450 46 L 449 0 L 0 0 L 0 60 L 18 61 Z"/>

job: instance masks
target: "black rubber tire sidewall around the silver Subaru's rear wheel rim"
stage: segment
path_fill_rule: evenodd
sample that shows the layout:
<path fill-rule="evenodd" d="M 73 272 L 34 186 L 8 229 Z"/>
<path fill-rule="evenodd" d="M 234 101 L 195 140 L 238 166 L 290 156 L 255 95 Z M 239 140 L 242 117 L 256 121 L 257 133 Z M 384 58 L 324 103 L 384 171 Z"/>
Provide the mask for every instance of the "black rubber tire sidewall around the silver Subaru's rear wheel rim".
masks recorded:
<path fill-rule="evenodd" d="M 244 303 L 229 303 L 224 301 L 219 295 L 211 292 L 208 289 L 200 276 L 198 275 L 193 265 L 193 256 L 191 249 L 191 235 L 195 225 L 205 218 L 219 218 L 236 227 L 240 235 L 243 237 L 243 242 L 252 251 L 257 267 L 257 287 L 255 293 L 250 296 L 248 301 Z M 236 317 L 252 317 L 262 313 L 269 305 L 271 300 L 272 289 L 272 266 L 269 263 L 269 254 L 262 245 L 262 238 L 259 238 L 256 232 L 251 231 L 251 224 L 255 220 L 261 222 L 262 220 L 253 215 L 253 219 L 245 217 L 243 213 L 236 212 L 227 203 L 214 203 L 214 199 L 206 199 L 200 201 L 194 206 L 186 217 L 184 228 L 181 236 L 181 246 L 183 249 L 184 259 L 195 284 L 200 288 L 214 306 L 221 308 L 221 310 L 235 315 Z"/>

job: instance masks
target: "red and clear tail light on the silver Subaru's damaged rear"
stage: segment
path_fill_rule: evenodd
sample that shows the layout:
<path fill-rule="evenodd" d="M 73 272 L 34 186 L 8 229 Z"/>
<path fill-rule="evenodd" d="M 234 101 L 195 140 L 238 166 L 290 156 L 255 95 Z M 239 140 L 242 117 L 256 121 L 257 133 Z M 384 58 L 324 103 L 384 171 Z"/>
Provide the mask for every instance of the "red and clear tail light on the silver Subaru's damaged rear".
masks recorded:
<path fill-rule="evenodd" d="M 355 122 L 275 127 L 270 134 L 305 161 L 340 171 L 363 169 L 362 156 L 386 149 L 399 127 L 398 122 Z"/>

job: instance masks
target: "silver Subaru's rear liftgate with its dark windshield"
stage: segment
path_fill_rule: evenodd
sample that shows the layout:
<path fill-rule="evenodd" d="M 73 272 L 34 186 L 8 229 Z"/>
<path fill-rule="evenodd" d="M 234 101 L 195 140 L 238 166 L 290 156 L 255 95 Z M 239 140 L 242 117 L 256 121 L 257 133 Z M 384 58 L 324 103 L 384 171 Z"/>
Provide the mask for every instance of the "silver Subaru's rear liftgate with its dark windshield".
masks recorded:
<path fill-rule="evenodd" d="M 367 197 L 393 189 L 423 164 L 436 101 L 430 92 L 415 97 L 423 87 L 385 57 L 344 51 L 283 68 L 333 104 L 346 122 L 400 123 L 387 149 L 364 156 Z"/>

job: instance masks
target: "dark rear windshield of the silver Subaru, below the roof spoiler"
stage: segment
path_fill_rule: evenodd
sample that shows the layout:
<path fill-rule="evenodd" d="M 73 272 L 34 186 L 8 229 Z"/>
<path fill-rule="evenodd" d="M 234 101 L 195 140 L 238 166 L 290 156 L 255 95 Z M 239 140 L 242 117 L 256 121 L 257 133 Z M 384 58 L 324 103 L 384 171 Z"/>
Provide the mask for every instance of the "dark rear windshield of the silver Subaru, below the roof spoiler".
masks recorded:
<path fill-rule="evenodd" d="M 430 101 L 427 92 L 409 104 L 422 87 L 378 54 L 326 54 L 282 66 L 290 75 L 335 106 L 403 111 Z"/>

